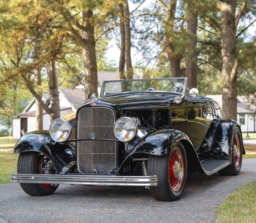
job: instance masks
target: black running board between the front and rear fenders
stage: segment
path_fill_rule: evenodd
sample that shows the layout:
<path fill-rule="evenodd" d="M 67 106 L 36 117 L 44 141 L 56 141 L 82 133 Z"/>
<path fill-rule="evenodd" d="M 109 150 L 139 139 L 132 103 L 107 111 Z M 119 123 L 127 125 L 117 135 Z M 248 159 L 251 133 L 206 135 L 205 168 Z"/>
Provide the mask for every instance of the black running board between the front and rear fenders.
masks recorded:
<path fill-rule="evenodd" d="M 230 162 L 228 160 L 207 160 L 201 163 L 203 169 L 207 172 L 207 175 L 212 175 L 229 164 Z"/>

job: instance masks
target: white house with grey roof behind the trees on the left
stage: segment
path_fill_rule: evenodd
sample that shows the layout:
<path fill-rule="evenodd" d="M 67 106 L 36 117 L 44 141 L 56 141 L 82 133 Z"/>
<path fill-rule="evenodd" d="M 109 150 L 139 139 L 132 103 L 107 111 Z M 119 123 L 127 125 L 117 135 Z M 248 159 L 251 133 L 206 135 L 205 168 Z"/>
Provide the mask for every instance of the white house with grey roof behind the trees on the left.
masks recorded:
<path fill-rule="evenodd" d="M 98 81 L 102 84 L 103 80 L 119 80 L 118 72 L 98 71 Z M 83 86 L 79 88 L 58 88 L 60 98 L 61 118 L 69 121 L 73 128 L 71 138 L 75 138 L 75 118 L 79 106 L 85 102 Z M 100 91 L 100 88 L 98 89 Z M 48 93 L 43 93 L 42 100 L 49 106 L 50 98 Z M 22 135 L 36 130 L 36 100 L 33 98 L 27 107 L 15 116 L 12 116 L 12 138 L 19 139 Z M 50 115 L 43 110 L 43 130 L 49 130 L 51 125 Z"/>

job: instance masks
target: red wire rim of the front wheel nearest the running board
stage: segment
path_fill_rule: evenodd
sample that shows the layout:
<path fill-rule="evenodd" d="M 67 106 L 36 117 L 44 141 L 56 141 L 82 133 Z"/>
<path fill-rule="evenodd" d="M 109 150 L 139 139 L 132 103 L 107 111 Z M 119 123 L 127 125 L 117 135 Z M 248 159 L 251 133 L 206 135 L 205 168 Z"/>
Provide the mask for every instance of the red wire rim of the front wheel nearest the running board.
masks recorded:
<path fill-rule="evenodd" d="M 179 147 L 174 147 L 169 159 L 169 181 L 174 192 L 178 192 L 184 179 L 184 158 Z"/>

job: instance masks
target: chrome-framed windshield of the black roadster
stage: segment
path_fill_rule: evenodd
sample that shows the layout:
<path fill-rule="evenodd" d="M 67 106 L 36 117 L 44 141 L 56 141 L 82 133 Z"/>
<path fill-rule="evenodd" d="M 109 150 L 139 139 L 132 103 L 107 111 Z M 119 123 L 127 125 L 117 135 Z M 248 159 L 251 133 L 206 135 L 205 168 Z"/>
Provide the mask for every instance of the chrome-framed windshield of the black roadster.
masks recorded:
<path fill-rule="evenodd" d="M 108 94 L 132 91 L 172 91 L 184 94 L 186 89 L 186 82 L 187 78 L 103 81 L 101 97 Z"/>

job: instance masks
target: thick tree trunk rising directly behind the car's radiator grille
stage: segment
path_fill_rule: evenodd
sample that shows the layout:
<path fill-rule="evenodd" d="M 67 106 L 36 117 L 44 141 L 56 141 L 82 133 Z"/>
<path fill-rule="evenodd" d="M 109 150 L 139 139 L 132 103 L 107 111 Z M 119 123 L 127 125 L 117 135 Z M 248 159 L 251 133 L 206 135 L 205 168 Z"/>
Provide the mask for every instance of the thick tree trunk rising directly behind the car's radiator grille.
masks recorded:
<path fill-rule="evenodd" d="M 94 26 L 91 22 L 93 12 L 83 11 L 84 29 L 81 30 L 83 62 L 84 62 L 84 90 L 85 100 L 88 94 L 94 92 L 98 96 L 98 74 L 95 52 Z"/>

